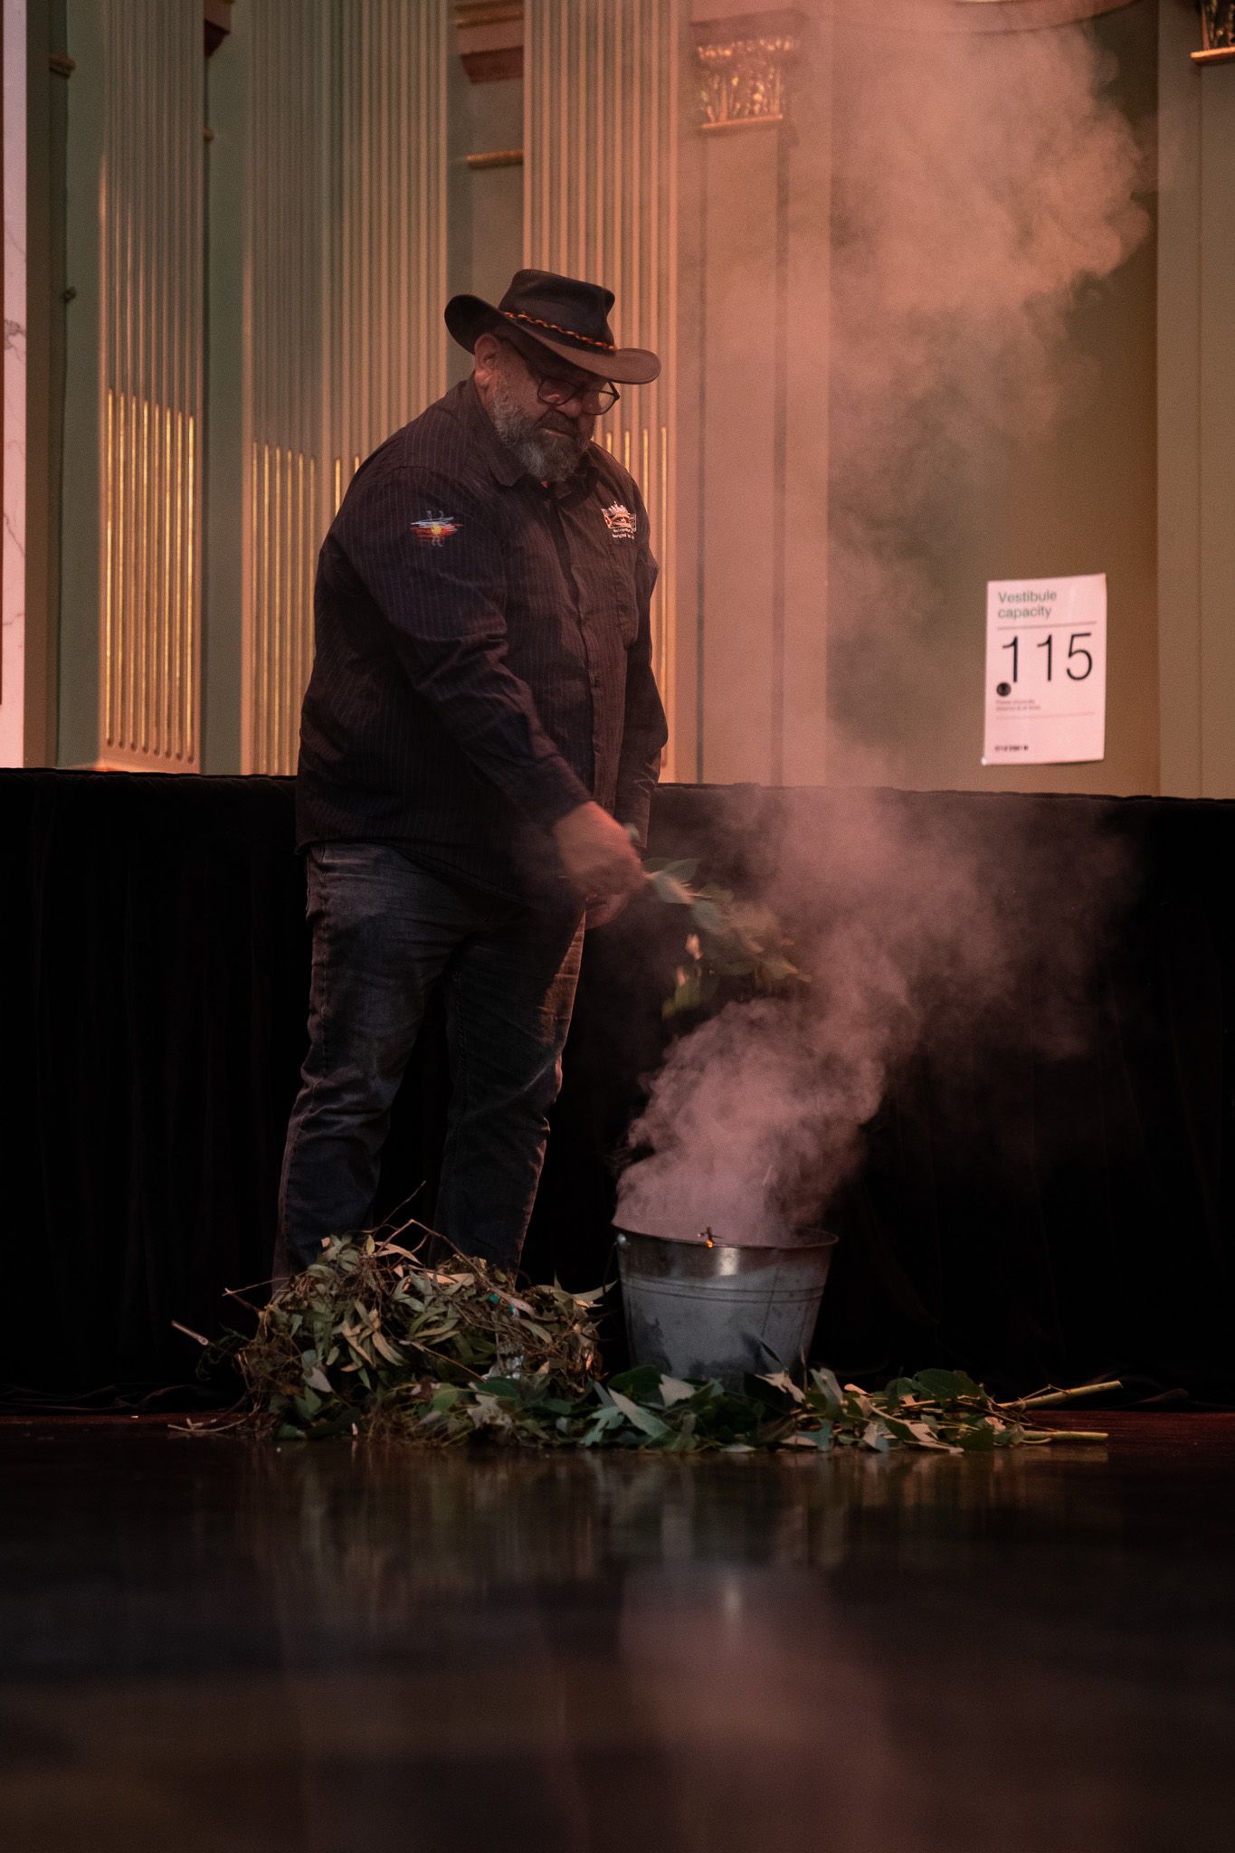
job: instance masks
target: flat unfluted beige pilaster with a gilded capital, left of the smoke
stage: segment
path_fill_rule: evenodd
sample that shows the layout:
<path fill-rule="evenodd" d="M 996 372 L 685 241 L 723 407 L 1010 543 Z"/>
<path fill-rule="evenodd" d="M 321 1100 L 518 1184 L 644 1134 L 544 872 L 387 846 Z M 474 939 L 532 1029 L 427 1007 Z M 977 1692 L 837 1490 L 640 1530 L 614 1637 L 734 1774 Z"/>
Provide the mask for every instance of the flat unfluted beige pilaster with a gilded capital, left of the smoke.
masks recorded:
<path fill-rule="evenodd" d="M 828 20 L 822 0 L 692 4 L 681 534 L 692 769 L 726 784 L 824 780 Z"/>

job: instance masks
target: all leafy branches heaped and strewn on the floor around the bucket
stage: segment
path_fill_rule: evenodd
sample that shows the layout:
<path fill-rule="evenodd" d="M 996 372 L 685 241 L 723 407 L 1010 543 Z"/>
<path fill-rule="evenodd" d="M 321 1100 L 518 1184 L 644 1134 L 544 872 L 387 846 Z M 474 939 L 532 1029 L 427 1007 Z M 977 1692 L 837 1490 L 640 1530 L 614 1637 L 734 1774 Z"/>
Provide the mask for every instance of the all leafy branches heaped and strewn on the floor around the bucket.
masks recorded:
<path fill-rule="evenodd" d="M 433 1266 L 396 1240 L 335 1238 L 257 1312 L 254 1336 L 213 1347 L 213 1358 L 239 1366 L 244 1406 L 191 1427 L 430 1445 L 983 1453 L 1054 1440 L 1033 1427 L 1033 1406 L 1081 1393 L 994 1403 L 963 1371 L 942 1369 L 878 1392 L 841 1386 L 828 1369 L 811 1369 L 804 1384 L 783 1369 L 752 1375 L 741 1393 L 650 1366 L 602 1382 L 600 1295 L 555 1284 L 517 1292 L 509 1275 L 472 1256 Z"/>

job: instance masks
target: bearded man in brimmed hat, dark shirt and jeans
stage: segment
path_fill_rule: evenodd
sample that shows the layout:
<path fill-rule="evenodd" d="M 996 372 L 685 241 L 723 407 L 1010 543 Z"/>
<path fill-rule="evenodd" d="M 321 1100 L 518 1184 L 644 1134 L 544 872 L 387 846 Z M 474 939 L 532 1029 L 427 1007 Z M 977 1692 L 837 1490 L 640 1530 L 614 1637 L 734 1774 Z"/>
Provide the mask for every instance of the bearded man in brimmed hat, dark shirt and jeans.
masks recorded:
<path fill-rule="evenodd" d="M 515 1267 L 561 1084 L 583 925 L 642 882 L 667 739 L 655 561 L 633 478 L 591 443 L 618 384 L 613 295 L 520 271 L 455 296 L 470 380 L 357 471 L 322 545 L 296 832 L 311 1047 L 276 1267 L 365 1227 L 430 986 L 452 1099 L 435 1227 Z"/>

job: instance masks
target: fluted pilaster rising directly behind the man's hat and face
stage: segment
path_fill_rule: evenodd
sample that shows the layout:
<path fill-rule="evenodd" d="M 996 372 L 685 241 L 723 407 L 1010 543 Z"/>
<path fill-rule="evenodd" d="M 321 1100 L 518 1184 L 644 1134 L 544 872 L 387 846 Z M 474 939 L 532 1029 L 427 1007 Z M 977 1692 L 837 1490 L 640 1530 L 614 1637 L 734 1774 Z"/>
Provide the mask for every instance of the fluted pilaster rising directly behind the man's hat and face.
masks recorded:
<path fill-rule="evenodd" d="M 620 347 L 661 356 L 598 441 L 633 469 L 661 561 L 652 634 L 674 776 L 678 0 L 526 0 L 524 263 L 607 285 Z"/>

